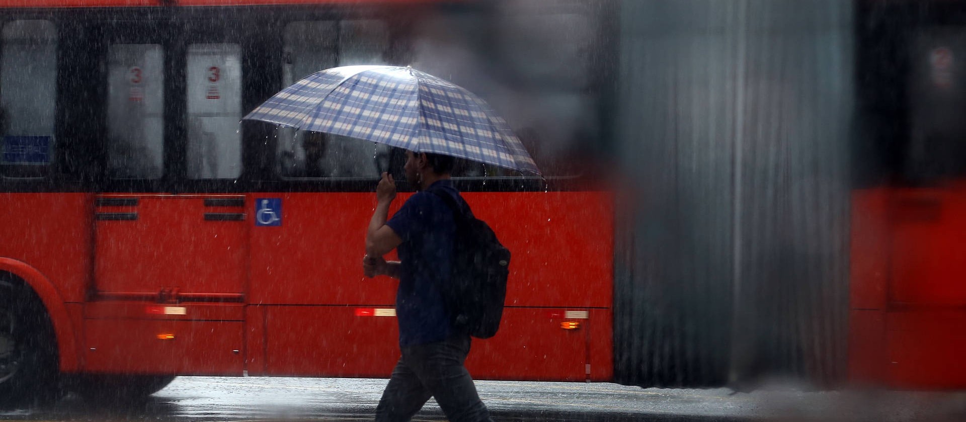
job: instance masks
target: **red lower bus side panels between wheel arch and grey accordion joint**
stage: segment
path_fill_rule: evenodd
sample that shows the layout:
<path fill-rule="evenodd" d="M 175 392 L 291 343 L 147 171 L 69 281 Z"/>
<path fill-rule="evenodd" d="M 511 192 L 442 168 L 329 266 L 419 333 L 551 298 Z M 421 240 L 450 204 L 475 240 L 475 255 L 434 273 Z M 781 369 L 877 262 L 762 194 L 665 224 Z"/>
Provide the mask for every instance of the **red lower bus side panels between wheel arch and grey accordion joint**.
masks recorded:
<path fill-rule="evenodd" d="M 401 194 L 393 211 L 410 195 Z M 465 195 L 477 216 L 488 221 L 506 246 L 516 251 L 500 331 L 493 339 L 476 342 L 468 363 L 474 376 L 588 380 L 593 374 L 596 380 L 610 379 L 611 312 L 607 293 L 611 291 L 611 194 Z M 143 256 L 134 261 L 144 266 L 119 268 L 128 271 L 122 272 L 127 279 L 97 281 L 99 288 L 121 287 L 99 290 L 100 299 L 85 307 L 85 371 L 239 375 L 244 369 L 250 375 L 315 377 L 390 374 L 399 356 L 394 318 L 396 282 L 385 277 L 365 279 L 359 265 L 373 207 L 372 193 L 249 193 L 244 201 L 248 205 L 243 225 L 249 231 L 246 236 L 250 245 L 235 244 L 239 236 L 236 232 L 232 232 L 234 237 L 206 232 L 208 227 L 237 227 L 232 226 L 236 221 L 201 218 L 203 211 L 210 211 L 204 207 L 206 199 L 235 201 L 230 204 L 238 207 L 233 196 L 101 195 L 98 212 L 131 211 L 110 209 L 132 207 L 130 202 L 110 201 L 132 198 L 138 199 L 138 220 L 106 223 L 118 223 L 111 228 L 119 231 L 116 236 L 139 243 L 102 244 L 118 240 L 99 239 L 97 251 L 116 251 L 116 257 L 120 257 L 117 266 L 123 266 L 125 254 L 137 255 L 139 252 L 132 249 L 142 244 L 150 247 L 141 252 L 160 258 Z M 262 204 L 267 199 L 280 200 L 275 203 L 280 208 L 274 209 L 278 221 L 259 219 L 259 213 L 266 211 Z M 561 215 L 552 210 L 577 211 Z M 184 215 L 184 220 L 156 226 L 131 225 L 125 231 L 126 223 Z M 196 244 L 188 252 L 193 250 L 194 255 L 173 258 L 173 254 L 185 253 L 184 244 L 170 240 L 171 232 L 178 231 L 192 234 Z M 240 261 L 208 253 L 197 245 L 206 239 L 223 238 L 232 239 L 231 244 L 219 243 L 218 248 L 242 251 Z M 239 290 L 208 284 L 211 274 L 202 267 L 219 265 L 230 266 L 230 273 L 241 270 L 250 274 L 247 311 L 242 303 L 182 300 L 194 294 Z M 169 269 L 184 271 L 179 266 L 197 267 L 193 270 L 196 278 L 190 278 L 192 273 L 184 274 L 180 295 L 156 293 L 144 296 L 146 300 L 142 301 L 111 296 L 120 291 L 152 293 L 149 287 L 156 286 L 154 279 L 139 275 Z M 597 370 L 592 370 L 595 367 Z"/>

